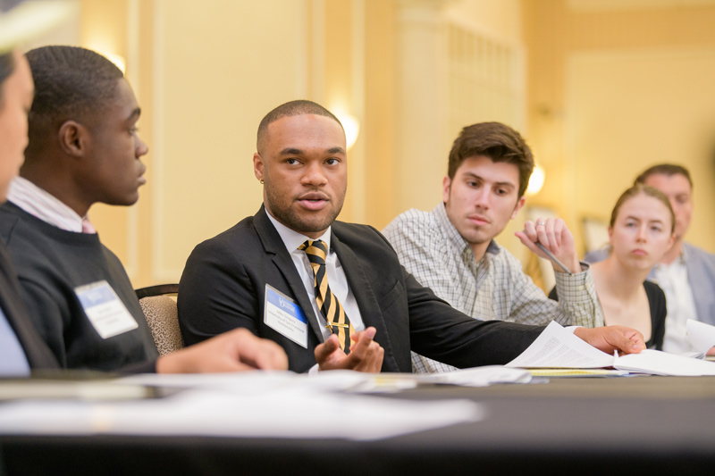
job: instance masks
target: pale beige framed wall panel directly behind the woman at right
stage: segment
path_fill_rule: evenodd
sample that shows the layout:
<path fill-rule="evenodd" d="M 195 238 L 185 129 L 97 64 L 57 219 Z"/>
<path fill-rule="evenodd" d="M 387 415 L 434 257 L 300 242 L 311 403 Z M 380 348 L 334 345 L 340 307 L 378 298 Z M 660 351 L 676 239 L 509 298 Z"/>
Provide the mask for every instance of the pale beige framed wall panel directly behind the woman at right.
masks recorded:
<path fill-rule="evenodd" d="M 681 163 L 695 182 L 687 238 L 715 251 L 713 84 L 715 48 L 574 55 L 568 62 L 567 154 L 578 218 L 610 216 L 640 171 Z"/>

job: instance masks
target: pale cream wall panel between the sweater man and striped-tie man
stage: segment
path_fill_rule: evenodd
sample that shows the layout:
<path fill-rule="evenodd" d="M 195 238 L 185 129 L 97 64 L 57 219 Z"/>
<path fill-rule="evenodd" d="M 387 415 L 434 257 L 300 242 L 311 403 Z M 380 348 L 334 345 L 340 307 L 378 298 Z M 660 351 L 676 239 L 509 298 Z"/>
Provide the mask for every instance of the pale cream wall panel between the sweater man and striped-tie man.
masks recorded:
<path fill-rule="evenodd" d="M 156 4 L 152 273 L 178 280 L 194 246 L 262 203 L 256 129 L 274 106 L 306 96 L 306 4 Z"/>

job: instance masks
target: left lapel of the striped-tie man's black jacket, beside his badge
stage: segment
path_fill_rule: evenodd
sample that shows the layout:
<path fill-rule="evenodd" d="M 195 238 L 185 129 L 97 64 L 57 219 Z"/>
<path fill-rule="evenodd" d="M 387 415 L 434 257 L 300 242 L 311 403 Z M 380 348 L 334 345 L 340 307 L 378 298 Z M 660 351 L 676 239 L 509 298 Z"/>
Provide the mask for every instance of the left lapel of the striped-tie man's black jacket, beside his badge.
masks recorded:
<path fill-rule="evenodd" d="M 310 329 L 313 330 L 315 337 L 318 338 L 318 342 L 323 342 L 323 332 L 320 328 L 320 322 L 318 322 L 315 317 L 313 305 L 307 296 L 303 281 L 300 280 L 296 266 L 290 258 L 288 250 L 285 248 L 281 235 L 278 234 L 278 231 L 273 227 L 273 223 L 268 219 L 264 206 L 261 206 L 261 209 L 256 213 L 254 226 L 256 227 L 258 237 L 261 238 L 263 242 L 265 251 L 273 255 L 273 263 L 278 270 L 281 271 L 283 278 L 293 292 L 293 296 L 296 296 L 298 305 L 303 310 L 303 313 L 306 314 L 307 322 L 310 323 Z"/>

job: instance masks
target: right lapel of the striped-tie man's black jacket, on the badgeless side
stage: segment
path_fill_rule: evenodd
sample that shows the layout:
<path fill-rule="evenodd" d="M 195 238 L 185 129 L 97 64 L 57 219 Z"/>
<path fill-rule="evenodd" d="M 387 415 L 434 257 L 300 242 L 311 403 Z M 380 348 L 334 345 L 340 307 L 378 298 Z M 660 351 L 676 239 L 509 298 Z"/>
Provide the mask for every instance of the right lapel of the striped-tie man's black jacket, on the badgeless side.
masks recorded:
<path fill-rule="evenodd" d="M 390 345 L 390 334 L 387 331 L 387 325 L 383 318 L 383 313 L 377 298 L 374 296 L 373 286 L 367 280 L 365 271 L 363 271 L 360 262 L 357 260 L 355 253 L 341 243 L 340 238 L 335 235 L 333 229 L 331 236 L 332 249 L 340 259 L 342 271 L 345 271 L 345 276 L 348 278 L 348 285 L 355 300 L 357 307 L 360 309 L 360 314 L 365 326 L 373 326 L 375 332 L 375 340 L 380 342 L 380 345 L 385 350 L 384 361 L 391 360 L 395 368 L 399 368 L 397 361 L 394 359 L 392 347 Z M 349 316 L 348 316 L 349 317 Z M 384 363 L 383 363 L 384 368 Z"/>

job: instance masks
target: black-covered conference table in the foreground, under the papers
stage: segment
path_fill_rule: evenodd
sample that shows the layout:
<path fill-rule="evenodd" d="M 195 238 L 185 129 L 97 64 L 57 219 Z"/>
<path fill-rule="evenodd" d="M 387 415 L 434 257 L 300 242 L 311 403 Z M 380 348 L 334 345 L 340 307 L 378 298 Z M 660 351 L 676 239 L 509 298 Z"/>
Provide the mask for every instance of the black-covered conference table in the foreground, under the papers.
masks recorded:
<path fill-rule="evenodd" d="M 478 402 L 484 418 L 395 438 L 3 436 L 0 474 L 711 473 L 715 377 L 428 385 L 371 398 Z M 262 411 L 257 408 L 256 411 Z M 315 415 L 316 425 L 340 422 Z"/>

